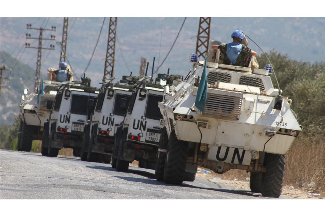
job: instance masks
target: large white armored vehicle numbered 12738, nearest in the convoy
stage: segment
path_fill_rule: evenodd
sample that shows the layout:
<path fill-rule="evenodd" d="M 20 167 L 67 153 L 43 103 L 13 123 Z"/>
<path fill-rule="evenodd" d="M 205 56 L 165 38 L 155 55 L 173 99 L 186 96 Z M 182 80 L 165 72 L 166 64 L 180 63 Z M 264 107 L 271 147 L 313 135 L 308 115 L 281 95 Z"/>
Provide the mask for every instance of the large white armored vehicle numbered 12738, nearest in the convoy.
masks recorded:
<path fill-rule="evenodd" d="M 190 62 L 184 82 L 166 89 L 159 103 L 166 134 L 160 142 L 157 179 L 181 184 L 186 163 L 219 174 L 242 169 L 251 173 L 252 192 L 279 197 L 285 154 L 301 127 L 290 108 L 292 100 L 272 85 L 271 66 L 252 71 L 198 62 L 195 54 Z M 207 78 L 202 111 L 195 107 L 201 77 Z"/>

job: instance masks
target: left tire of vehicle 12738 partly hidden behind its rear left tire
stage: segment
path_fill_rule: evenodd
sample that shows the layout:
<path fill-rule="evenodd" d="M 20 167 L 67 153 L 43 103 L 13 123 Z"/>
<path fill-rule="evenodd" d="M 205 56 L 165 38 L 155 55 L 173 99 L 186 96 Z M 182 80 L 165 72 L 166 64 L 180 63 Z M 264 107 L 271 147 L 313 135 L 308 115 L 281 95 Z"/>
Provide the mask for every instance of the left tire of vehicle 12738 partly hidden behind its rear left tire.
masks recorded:
<path fill-rule="evenodd" d="M 162 128 L 162 133 L 160 135 L 159 140 L 159 149 L 167 149 L 168 146 L 168 135 L 166 127 Z M 159 157 L 158 157 L 159 155 Z M 156 155 L 156 169 L 155 169 L 155 176 L 157 181 L 163 181 L 163 173 L 165 169 L 165 162 L 166 162 L 166 153 L 158 152 Z"/>

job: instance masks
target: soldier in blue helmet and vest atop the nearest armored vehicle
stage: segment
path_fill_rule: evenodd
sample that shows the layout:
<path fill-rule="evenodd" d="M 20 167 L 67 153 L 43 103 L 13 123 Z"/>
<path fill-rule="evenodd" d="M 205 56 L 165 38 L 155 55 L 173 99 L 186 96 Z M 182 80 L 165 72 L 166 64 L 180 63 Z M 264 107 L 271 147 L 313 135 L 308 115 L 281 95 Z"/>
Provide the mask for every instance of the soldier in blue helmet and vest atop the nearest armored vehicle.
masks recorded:
<path fill-rule="evenodd" d="M 241 44 L 244 40 L 244 33 L 240 30 L 235 30 L 231 34 L 233 42 L 221 45 L 213 45 L 213 50 L 219 49 L 224 54 L 223 64 L 230 64 L 241 67 L 248 67 L 251 56 L 256 56 L 257 53 L 247 46 Z"/>

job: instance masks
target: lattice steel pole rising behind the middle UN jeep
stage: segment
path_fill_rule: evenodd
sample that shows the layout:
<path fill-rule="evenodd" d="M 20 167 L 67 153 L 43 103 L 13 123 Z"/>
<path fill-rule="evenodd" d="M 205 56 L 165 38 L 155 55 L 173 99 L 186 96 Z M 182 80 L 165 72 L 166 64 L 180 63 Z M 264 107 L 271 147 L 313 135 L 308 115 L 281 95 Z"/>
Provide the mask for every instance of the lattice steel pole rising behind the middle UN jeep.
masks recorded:
<path fill-rule="evenodd" d="M 116 25 L 117 17 L 110 17 L 103 82 L 114 75 Z"/>

